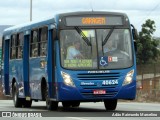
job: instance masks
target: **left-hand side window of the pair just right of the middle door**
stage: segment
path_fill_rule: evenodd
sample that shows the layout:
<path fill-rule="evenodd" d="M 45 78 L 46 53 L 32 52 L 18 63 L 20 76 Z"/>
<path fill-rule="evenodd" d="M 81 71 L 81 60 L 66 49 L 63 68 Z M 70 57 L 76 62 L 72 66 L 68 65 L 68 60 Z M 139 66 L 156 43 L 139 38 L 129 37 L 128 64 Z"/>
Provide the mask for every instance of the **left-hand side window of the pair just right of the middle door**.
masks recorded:
<path fill-rule="evenodd" d="M 38 29 L 31 32 L 30 57 L 38 56 Z"/>

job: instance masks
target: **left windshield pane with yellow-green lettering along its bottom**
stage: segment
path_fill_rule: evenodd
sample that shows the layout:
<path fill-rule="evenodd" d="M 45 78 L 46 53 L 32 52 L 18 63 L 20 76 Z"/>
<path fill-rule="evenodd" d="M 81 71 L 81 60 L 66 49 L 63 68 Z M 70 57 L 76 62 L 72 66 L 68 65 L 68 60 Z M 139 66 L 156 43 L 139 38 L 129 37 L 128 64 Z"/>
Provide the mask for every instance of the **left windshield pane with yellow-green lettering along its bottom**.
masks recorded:
<path fill-rule="evenodd" d="M 87 45 L 85 38 L 76 30 L 62 30 L 60 32 L 61 63 L 64 68 L 93 69 L 97 67 L 97 52 L 95 30 L 82 30 L 86 38 L 91 42 Z"/>

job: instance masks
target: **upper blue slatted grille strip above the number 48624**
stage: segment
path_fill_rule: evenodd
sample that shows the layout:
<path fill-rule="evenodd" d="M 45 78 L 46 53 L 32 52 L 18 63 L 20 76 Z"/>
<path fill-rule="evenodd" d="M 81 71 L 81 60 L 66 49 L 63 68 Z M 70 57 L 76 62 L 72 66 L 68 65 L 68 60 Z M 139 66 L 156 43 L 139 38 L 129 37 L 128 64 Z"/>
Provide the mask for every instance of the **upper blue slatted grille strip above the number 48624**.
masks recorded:
<path fill-rule="evenodd" d="M 86 73 L 78 74 L 79 80 L 115 80 L 119 79 L 120 73 Z"/>

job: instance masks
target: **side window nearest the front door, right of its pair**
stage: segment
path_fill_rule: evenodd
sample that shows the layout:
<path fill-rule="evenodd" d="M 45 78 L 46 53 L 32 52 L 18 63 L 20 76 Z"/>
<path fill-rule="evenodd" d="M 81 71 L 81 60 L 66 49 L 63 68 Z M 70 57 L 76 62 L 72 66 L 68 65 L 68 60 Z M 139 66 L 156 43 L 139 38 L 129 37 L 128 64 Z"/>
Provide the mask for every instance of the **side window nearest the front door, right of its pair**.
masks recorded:
<path fill-rule="evenodd" d="M 47 53 L 48 28 L 40 29 L 40 56 L 46 56 Z"/>

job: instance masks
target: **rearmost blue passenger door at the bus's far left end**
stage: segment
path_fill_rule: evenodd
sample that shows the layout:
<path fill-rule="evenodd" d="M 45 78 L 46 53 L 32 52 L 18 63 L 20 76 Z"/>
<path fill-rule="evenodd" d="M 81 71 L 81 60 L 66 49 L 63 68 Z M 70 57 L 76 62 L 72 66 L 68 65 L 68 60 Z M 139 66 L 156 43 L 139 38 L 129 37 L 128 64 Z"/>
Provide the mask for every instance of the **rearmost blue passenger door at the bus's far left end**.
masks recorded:
<path fill-rule="evenodd" d="M 9 39 L 4 40 L 4 89 L 5 95 L 10 95 L 9 88 Z"/>

